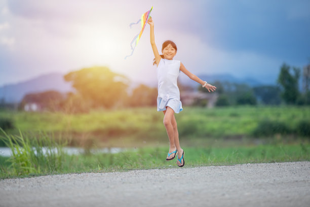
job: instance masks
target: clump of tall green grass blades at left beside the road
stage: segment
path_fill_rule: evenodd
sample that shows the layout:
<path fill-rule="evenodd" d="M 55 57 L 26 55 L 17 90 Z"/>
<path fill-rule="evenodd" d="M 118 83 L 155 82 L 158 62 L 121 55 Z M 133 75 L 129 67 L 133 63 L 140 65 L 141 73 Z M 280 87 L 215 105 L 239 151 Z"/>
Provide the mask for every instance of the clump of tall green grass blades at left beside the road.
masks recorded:
<path fill-rule="evenodd" d="M 0 139 L 6 143 L 12 151 L 12 156 L 7 160 L 11 164 L 11 175 L 29 175 L 55 172 L 62 168 L 63 150 L 66 145 L 59 145 L 55 139 L 48 137 L 46 133 L 40 134 L 37 139 L 29 139 L 21 131 L 20 135 L 7 134 L 2 128 L 4 135 Z M 46 147 L 47 153 L 44 153 Z"/>

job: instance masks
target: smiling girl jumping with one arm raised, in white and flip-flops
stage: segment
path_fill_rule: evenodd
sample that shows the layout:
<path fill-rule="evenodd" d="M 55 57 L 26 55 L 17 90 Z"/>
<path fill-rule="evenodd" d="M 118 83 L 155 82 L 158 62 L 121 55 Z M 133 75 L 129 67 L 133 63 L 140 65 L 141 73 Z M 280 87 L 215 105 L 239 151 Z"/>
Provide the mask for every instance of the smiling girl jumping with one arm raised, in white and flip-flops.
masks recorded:
<path fill-rule="evenodd" d="M 182 103 L 180 101 L 180 92 L 177 86 L 177 78 L 182 71 L 191 80 L 194 80 L 202 87 L 206 87 L 209 92 L 216 89 L 215 86 L 202 81 L 197 76 L 191 74 L 186 70 L 185 66 L 179 61 L 173 59 L 176 55 L 177 47 L 172 41 L 165 41 L 162 47 L 162 55 L 159 54 L 154 40 L 154 22 L 150 17 L 147 21 L 150 25 L 150 43 L 154 53 L 154 63 L 157 65 L 158 78 L 158 97 L 157 97 L 157 111 L 164 112 L 164 125 L 169 137 L 170 148 L 166 160 L 174 159 L 177 156 L 177 165 L 184 166 L 184 150 L 180 147 L 179 133 L 174 113 L 182 111 Z"/>

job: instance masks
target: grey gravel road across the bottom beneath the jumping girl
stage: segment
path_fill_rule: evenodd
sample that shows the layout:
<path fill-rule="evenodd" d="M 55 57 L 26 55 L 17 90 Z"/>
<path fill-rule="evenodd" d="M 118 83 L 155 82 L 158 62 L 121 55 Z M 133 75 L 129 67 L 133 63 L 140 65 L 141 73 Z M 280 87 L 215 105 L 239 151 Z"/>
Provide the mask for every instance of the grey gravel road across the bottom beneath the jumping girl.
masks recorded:
<path fill-rule="evenodd" d="M 0 180 L 0 206 L 310 206 L 310 162 Z"/>

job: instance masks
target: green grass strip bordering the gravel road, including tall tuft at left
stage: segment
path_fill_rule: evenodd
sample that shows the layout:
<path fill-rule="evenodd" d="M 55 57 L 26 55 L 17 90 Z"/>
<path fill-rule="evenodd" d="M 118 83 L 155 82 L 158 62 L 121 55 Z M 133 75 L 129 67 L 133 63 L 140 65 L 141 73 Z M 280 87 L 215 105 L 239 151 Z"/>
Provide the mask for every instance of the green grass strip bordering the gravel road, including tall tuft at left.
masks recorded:
<path fill-rule="evenodd" d="M 8 135 L 6 138 L 11 140 L 10 143 L 16 139 L 12 135 Z M 37 143 L 37 147 L 32 149 L 31 142 L 27 137 L 21 134 L 19 138 L 22 148 L 14 144 L 9 146 L 12 149 L 19 148 L 17 152 L 22 153 L 15 153 L 11 157 L 0 156 L 0 178 L 2 179 L 80 172 L 178 168 L 176 159 L 166 161 L 169 148 L 160 145 L 137 148 L 117 154 L 68 155 L 55 141 L 46 142 L 45 145 Z M 34 150 L 42 152 L 40 145 L 48 146 L 51 149 L 50 154 L 37 153 L 35 155 Z M 59 150 L 52 150 L 55 146 Z M 310 160 L 310 144 L 307 142 L 235 147 L 183 147 L 183 149 L 185 151 L 184 167 Z"/>

